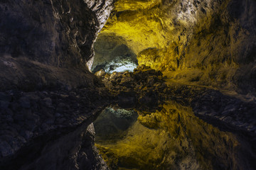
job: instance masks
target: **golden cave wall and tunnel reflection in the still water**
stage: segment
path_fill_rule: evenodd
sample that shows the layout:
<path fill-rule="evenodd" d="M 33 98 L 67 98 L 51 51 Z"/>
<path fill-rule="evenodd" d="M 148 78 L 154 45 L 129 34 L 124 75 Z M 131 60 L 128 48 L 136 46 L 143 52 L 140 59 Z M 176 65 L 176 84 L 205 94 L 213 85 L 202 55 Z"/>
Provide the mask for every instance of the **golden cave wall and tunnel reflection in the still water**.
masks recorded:
<path fill-rule="evenodd" d="M 134 113 L 118 117 L 108 108 L 95 121 L 96 146 L 110 169 L 255 167 L 250 142 L 197 118 L 189 107 L 170 101 L 161 111 L 134 110 L 137 120 Z M 107 130 L 110 125 L 113 130 Z"/>

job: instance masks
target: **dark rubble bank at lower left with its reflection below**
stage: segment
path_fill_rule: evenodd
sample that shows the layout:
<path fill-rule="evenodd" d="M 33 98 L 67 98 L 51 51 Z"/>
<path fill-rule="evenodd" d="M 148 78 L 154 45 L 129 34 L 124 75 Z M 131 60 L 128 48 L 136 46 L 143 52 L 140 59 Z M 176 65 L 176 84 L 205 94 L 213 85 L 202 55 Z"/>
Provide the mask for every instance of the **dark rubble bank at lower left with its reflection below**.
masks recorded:
<path fill-rule="evenodd" d="M 77 91 L 8 91 L 0 98 L 1 169 L 105 167 L 97 158 L 93 130 L 92 135 L 86 131 L 107 105 L 104 91 L 96 86 Z"/>

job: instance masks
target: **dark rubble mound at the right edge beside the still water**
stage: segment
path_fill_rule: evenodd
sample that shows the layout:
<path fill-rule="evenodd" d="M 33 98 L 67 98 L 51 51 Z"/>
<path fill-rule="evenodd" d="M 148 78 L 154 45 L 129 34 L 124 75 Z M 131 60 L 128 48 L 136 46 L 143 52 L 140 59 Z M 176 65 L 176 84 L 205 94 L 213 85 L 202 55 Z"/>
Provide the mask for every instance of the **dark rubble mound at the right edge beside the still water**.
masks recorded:
<path fill-rule="evenodd" d="M 206 122 L 217 126 L 220 124 L 220 128 L 220 122 L 225 123 L 232 127 L 231 132 L 242 129 L 256 134 L 255 101 L 245 102 L 219 91 L 208 90 L 195 96 L 191 106 L 196 115 Z M 218 121 L 215 122 L 213 118 Z"/>

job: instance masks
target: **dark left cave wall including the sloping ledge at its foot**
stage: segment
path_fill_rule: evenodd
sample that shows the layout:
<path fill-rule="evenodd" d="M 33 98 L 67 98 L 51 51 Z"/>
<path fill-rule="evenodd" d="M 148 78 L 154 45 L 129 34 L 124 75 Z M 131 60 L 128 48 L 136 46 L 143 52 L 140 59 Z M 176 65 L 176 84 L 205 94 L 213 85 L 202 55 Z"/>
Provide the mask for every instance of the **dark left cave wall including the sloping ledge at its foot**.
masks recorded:
<path fill-rule="evenodd" d="M 88 74 L 85 64 L 92 58 L 92 43 L 110 15 L 112 3 L 1 1 L 1 89 L 22 89 L 28 84 L 53 87 L 56 79 L 62 84 L 76 81 L 75 86 L 87 85 L 82 80 Z M 75 74 L 73 79 L 63 78 L 70 72 Z"/>

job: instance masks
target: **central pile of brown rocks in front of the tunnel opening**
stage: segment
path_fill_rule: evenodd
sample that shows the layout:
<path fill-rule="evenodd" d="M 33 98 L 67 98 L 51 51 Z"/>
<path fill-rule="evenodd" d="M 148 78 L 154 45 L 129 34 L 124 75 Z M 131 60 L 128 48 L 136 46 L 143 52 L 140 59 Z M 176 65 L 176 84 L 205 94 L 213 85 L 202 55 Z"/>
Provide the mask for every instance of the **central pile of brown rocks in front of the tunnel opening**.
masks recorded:
<path fill-rule="evenodd" d="M 122 108 L 156 109 L 165 98 L 166 89 L 163 74 L 145 65 L 139 65 L 134 72 L 113 72 L 102 70 L 95 73 L 102 79 L 110 94 L 116 96 Z"/>

